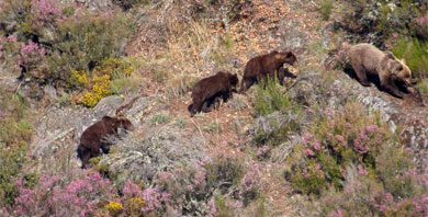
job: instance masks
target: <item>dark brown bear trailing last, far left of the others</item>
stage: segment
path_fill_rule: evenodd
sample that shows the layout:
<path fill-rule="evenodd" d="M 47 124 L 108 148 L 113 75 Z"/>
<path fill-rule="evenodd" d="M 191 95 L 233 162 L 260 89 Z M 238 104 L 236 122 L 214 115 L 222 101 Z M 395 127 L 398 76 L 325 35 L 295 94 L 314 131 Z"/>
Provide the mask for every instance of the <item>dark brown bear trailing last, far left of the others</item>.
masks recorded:
<path fill-rule="evenodd" d="M 115 136 L 119 137 L 119 128 L 122 127 L 126 130 L 133 130 L 134 126 L 123 116 L 104 116 L 101 121 L 89 126 L 80 137 L 80 145 L 77 148 L 77 156 L 82 162 L 82 169 L 87 168 L 88 161 L 92 157 L 100 155 L 100 149 L 103 153 L 110 151 L 111 142 L 105 141 L 105 137 Z"/>

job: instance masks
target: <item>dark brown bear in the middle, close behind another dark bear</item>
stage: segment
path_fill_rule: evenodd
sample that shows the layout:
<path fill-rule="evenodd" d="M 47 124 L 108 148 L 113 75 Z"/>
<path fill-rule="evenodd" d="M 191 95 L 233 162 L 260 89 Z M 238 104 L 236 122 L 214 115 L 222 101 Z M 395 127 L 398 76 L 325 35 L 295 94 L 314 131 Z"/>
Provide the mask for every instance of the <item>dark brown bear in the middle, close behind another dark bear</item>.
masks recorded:
<path fill-rule="evenodd" d="M 217 98 L 223 98 L 224 102 L 232 99 L 232 92 L 238 84 L 239 79 L 236 73 L 218 71 L 216 75 L 204 78 L 192 88 L 193 104 L 188 106 L 190 116 L 198 112 L 211 111 L 211 105 L 218 104 Z M 206 103 L 206 104 L 205 104 Z M 205 105 L 204 105 L 205 104 Z"/>

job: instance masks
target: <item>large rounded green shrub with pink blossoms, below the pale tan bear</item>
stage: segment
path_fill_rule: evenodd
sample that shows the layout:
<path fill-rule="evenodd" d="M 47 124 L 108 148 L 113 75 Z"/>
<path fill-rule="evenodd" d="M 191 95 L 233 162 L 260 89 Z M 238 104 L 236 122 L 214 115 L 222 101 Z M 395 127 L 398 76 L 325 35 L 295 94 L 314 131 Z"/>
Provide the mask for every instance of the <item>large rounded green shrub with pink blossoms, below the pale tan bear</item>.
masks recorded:
<path fill-rule="evenodd" d="M 289 158 L 286 176 L 295 190 L 305 194 L 319 194 L 328 187 L 341 190 L 346 168 L 352 163 L 361 171 L 373 171 L 375 156 L 392 136 L 376 115 L 363 111 L 361 105 L 349 103 L 315 122 Z"/>

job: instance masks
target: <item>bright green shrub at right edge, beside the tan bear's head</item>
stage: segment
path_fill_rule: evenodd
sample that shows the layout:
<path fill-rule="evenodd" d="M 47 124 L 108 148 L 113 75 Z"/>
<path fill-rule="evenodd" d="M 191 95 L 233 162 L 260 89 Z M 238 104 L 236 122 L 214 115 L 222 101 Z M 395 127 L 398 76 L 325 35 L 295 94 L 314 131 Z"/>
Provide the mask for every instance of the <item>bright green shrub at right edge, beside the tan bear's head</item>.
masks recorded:
<path fill-rule="evenodd" d="M 428 78 L 428 42 L 417 38 L 399 38 L 392 50 L 397 58 L 404 58 L 413 77 Z"/>

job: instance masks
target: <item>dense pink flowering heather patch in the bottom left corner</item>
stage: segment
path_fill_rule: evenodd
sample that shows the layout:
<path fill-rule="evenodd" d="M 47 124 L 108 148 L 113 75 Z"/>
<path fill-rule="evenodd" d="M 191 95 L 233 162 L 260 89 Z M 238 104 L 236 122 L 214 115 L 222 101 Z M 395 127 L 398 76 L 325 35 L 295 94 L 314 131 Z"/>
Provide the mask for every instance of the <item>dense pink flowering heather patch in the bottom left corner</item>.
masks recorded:
<path fill-rule="evenodd" d="M 42 175 L 34 187 L 16 182 L 12 216 L 88 216 L 112 197 L 110 181 L 97 172 L 71 171 L 63 178 Z"/>

